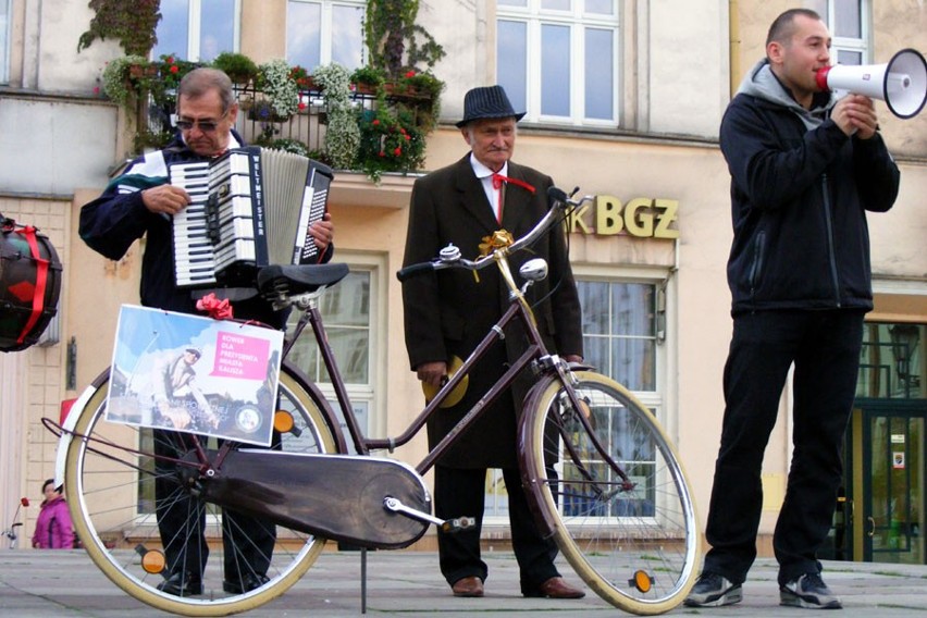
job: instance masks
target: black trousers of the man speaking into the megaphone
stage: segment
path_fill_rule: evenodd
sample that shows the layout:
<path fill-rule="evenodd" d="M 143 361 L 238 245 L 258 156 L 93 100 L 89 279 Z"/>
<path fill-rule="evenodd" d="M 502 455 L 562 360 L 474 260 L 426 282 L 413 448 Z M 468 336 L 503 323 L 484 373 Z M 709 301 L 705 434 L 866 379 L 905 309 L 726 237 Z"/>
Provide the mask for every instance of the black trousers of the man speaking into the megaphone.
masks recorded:
<path fill-rule="evenodd" d="M 740 583 L 756 558 L 761 471 L 794 363 L 793 455 L 772 545 L 779 583 L 819 572 L 843 477 L 843 438 L 856 387 L 863 311 L 768 311 L 734 317 L 725 366 L 725 417 L 708 510 L 704 571 Z"/>

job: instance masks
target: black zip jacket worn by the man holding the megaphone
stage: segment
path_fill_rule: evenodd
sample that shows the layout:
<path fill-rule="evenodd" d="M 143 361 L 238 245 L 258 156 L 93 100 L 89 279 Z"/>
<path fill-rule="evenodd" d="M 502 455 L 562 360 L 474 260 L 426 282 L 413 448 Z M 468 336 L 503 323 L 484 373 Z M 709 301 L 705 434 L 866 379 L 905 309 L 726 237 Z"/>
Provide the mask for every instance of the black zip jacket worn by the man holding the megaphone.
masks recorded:
<path fill-rule="evenodd" d="M 883 212 L 900 174 L 880 135 L 808 131 L 787 108 L 738 95 L 721 121 L 731 173 L 732 313 L 873 308 L 866 210 Z"/>

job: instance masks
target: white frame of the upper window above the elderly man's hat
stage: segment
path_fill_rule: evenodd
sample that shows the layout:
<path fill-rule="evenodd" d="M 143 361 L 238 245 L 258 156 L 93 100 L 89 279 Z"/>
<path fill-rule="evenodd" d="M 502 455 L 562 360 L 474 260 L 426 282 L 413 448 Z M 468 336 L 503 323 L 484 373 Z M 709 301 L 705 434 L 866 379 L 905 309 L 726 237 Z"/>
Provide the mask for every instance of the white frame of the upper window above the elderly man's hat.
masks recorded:
<path fill-rule="evenodd" d="M 527 62 L 526 66 L 526 116 L 523 122 L 539 124 L 573 125 L 590 128 L 621 125 L 621 92 L 623 66 L 621 65 L 623 32 L 621 3 L 611 0 L 611 15 L 595 15 L 583 12 L 582 0 L 570 0 L 571 8 L 567 11 L 542 9 L 542 0 L 526 0 L 524 7 L 499 5 L 496 8 L 496 33 L 499 22 L 526 24 L 526 58 L 542 55 L 542 30 L 546 25 L 568 26 L 570 29 L 570 63 L 571 84 L 578 85 L 570 89 L 569 115 L 552 115 L 542 113 L 543 81 L 542 63 Z M 611 64 L 614 67 L 611 84 L 611 118 L 592 119 L 585 115 L 585 40 L 589 29 L 608 29 L 614 34 Z M 496 41 L 496 74 L 498 74 L 498 40 Z M 519 110 L 521 111 L 521 110 Z"/>

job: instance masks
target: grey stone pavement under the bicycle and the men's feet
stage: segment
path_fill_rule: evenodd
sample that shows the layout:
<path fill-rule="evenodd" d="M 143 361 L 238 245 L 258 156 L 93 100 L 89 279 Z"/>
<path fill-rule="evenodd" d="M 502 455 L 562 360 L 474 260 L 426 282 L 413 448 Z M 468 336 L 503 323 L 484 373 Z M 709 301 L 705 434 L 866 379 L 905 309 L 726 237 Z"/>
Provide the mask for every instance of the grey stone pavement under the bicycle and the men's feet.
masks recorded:
<path fill-rule="evenodd" d="M 437 573 L 433 552 L 370 552 L 367 560 L 369 616 L 500 617 L 519 613 L 534 616 L 597 618 L 621 615 L 594 594 L 579 601 L 522 598 L 518 568 L 507 552 L 489 552 L 486 596 L 455 598 Z M 360 553 L 323 553 L 306 576 L 282 597 L 248 614 L 277 618 L 361 616 Z M 560 568 L 568 581 L 579 578 L 568 565 Z M 841 618 L 927 618 L 927 566 L 873 563 L 825 563 L 825 581 L 844 609 L 828 614 Z M 780 607 L 776 565 L 757 560 L 744 584 L 742 603 L 720 608 L 677 607 L 668 616 L 784 616 L 809 610 Z M 164 613 L 143 605 L 112 584 L 79 549 L 0 551 L 0 616 L 36 617 L 161 617 Z"/>

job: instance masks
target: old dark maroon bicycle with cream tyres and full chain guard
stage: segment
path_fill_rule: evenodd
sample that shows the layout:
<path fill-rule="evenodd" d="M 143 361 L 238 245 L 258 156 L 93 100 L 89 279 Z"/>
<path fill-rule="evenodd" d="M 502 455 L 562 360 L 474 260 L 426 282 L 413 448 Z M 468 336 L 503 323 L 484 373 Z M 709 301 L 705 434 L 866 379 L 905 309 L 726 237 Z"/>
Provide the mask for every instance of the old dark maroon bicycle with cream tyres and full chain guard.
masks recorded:
<path fill-rule="evenodd" d="M 576 191 L 574 191 L 576 193 Z M 277 307 L 301 311 L 284 346 L 275 428 L 279 450 L 215 448 L 195 444 L 174 460 L 177 492 L 197 498 L 218 530 L 217 508 L 247 512 L 273 522 L 276 545 L 269 581 L 240 594 L 225 594 L 219 563 L 202 574 L 203 594 L 172 596 L 157 589 L 164 572 L 154 509 L 147 502 L 154 481 L 150 430 L 102 421 L 109 375 L 103 372 L 75 403 L 61 432 L 58 470 L 63 473 L 74 526 L 91 559 L 120 588 L 154 607 L 190 616 L 252 609 L 285 592 L 318 558 L 324 540 L 360 547 L 400 548 L 431 524 L 453 532 L 472 521 L 443 521 L 431 515 L 422 477 L 522 370 L 536 382 L 523 403 L 519 427 L 522 481 L 539 526 L 552 535 L 566 560 L 603 600 L 623 610 L 652 615 L 679 605 L 694 583 L 700 564 L 695 506 L 670 440 L 654 415 L 617 382 L 591 367 L 569 364 L 547 351 L 523 293 L 546 276 L 543 260 L 526 262 L 519 287 L 508 257 L 547 233 L 573 200 L 551 191 L 551 210 L 522 238 L 498 232 L 484 257 L 467 260 L 454 247 L 431 262 L 397 273 L 400 280 L 427 271 L 495 264 L 510 291 L 508 310 L 462 367 L 397 437 L 372 438 L 361 431 L 335 362 L 318 309 L 324 291 L 347 275 L 345 264 L 268 267 L 259 289 Z M 520 321 L 529 337 L 522 356 L 466 415 L 457 430 L 415 467 L 371 452 L 409 443 L 428 418 L 455 391 L 506 324 Z M 332 404 L 287 360 L 306 326 L 312 329 L 344 410 L 347 438 Z M 459 431 L 458 431 L 459 430 Z M 461 514 L 462 515 L 462 514 Z M 169 542 L 172 542 L 169 540 Z M 219 547 L 214 544 L 215 548 Z M 224 547 L 225 556 L 235 547 Z"/>

